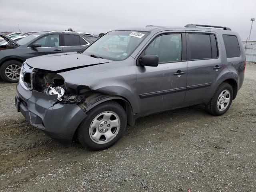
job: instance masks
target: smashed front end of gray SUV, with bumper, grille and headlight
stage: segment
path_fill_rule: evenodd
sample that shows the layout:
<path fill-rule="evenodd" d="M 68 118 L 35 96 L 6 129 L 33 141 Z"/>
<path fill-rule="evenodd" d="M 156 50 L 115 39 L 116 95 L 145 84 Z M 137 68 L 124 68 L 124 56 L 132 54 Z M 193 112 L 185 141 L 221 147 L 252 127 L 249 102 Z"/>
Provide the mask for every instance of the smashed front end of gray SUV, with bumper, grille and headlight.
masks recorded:
<path fill-rule="evenodd" d="M 60 143 L 70 145 L 76 128 L 87 117 L 80 107 L 86 91 L 67 86 L 57 72 L 31 68 L 26 62 L 22 65 L 16 90 L 18 112 L 33 126 Z"/>

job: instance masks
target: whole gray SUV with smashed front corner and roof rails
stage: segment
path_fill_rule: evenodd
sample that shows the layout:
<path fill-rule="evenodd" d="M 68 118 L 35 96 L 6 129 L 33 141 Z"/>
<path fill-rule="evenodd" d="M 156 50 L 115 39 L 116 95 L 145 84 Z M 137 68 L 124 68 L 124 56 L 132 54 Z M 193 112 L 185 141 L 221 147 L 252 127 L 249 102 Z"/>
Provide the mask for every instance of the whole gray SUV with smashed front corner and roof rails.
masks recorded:
<path fill-rule="evenodd" d="M 15 103 L 30 124 L 62 144 L 77 137 L 101 150 L 141 116 L 195 104 L 224 114 L 245 64 L 242 41 L 227 27 L 114 30 L 83 52 L 26 60 Z"/>

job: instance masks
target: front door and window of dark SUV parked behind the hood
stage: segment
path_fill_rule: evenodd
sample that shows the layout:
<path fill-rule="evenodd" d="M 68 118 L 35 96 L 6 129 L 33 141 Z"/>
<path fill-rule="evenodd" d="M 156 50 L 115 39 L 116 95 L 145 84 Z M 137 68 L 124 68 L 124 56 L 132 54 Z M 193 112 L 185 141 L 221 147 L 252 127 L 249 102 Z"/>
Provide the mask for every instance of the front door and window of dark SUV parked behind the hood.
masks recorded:
<path fill-rule="evenodd" d="M 62 53 L 62 42 L 59 34 L 42 36 L 41 38 L 35 40 L 34 43 L 39 43 L 41 47 L 30 48 L 30 54 L 32 56 Z"/>

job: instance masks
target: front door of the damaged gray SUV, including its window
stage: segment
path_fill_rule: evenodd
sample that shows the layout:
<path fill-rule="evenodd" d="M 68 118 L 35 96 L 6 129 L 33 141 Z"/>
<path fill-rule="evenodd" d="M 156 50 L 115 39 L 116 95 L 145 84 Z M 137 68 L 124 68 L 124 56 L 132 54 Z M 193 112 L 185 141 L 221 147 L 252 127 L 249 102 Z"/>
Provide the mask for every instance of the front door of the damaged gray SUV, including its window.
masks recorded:
<path fill-rule="evenodd" d="M 138 115 L 181 107 L 188 70 L 184 57 L 185 35 L 176 33 L 157 36 L 144 54 L 157 55 L 159 64 L 157 67 L 137 66 Z"/>

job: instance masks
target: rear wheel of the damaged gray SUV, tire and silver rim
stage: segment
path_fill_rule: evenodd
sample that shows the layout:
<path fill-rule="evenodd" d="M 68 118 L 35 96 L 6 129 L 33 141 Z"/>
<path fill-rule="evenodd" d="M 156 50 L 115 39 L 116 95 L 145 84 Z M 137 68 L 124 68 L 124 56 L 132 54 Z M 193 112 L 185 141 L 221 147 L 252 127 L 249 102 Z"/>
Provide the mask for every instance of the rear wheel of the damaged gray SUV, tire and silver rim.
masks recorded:
<path fill-rule="evenodd" d="M 206 105 L 207 111 L 215 116 L 226 113 L 233 100 L 233 88 L 228 83 L 222 83 L 216 89 L 214 96 Z"/>

